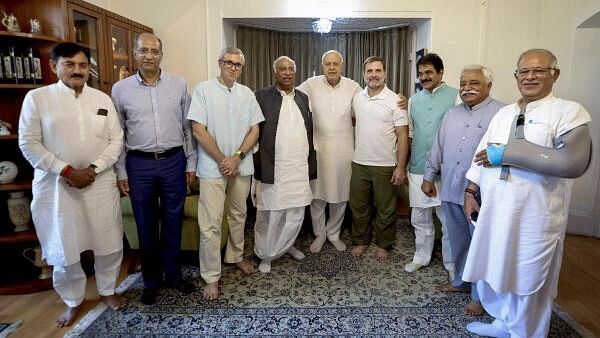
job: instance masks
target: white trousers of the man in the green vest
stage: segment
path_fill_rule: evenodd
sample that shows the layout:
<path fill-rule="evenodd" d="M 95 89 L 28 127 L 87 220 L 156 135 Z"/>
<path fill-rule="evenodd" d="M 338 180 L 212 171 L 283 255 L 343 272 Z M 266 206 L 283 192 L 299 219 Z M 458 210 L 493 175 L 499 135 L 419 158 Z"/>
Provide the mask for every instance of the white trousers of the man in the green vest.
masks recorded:
<path fill-rule="evenodd" d="M 446 222 L 441 206 L 430 208 L 412 208 L 410 222 L 415 228 L 415 255 L 413 262 L 420 265 L 429 265 L 431 253 L 433 252 L 433 242 L 435 241 L 435 224 L 433 223 L 433 209 L 435 214 L 442 222 L 442 259 L 446 270 L 454 270 L 452 260 L 452 251 L 450 251 L 450 241 Z"/>

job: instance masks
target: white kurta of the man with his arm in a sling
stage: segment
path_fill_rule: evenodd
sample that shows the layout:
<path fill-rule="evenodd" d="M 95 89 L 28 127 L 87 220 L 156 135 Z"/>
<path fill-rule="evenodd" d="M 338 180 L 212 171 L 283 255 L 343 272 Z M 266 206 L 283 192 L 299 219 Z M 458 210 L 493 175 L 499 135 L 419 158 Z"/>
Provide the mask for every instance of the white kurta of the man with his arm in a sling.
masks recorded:
<path fill-rule="evenodd" d="M 506 144 L 518 114 L 517 104 L 502 108 L 477 152 L 488 143 Z M 552 147 L 557 137 L 589 122 L 581 105 L 549 95 L 527 105 L 525 138 Z M 544 285 L 551 267 L 560 269 L 573 180 L 510 167 L 504 181 L 500 171 L 473 164 L 467 172 L 467 179 L 480 187 L 482 204 L 463 279 L 483 280 L 496 292 L 531 295 Z M 551 264 L 555 253 L 558 264 Z M 558 278 L 558 273 L 550 275 Z"/>

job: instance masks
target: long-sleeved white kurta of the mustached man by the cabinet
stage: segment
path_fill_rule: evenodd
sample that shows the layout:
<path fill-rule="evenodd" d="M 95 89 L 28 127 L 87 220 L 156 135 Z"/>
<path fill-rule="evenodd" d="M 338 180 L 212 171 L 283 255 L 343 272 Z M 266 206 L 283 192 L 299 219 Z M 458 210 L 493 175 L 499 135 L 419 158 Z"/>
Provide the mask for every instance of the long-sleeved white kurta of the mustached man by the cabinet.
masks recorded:
<path fill-rule="evenodd" d="M 35 168 L 32 218 L 50 265 L 79 261 L 84 250 L 108 255 L 123 248 L 121 207 L 113 164 L 123 130 L 110 97 L 85 86 L 79 97 L 62 82 L 35 89 L 23 101 L 19 146 Z M 92 185 L 69 187 L 61 170 L 97 166 Z"/>

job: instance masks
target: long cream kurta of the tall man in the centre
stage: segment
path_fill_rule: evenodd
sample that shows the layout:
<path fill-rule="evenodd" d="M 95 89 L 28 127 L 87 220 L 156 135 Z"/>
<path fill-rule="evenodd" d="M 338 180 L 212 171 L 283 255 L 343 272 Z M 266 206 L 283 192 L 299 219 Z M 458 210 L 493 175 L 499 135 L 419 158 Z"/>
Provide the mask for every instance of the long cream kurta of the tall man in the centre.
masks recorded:
<path fill-rule="evenodd" d="M 308 95 L 313 113 L 313 140 L 317 152 L 317 179 L 311 182 L 313 198 L 328 203 L 346 202 L 354 153 L 352 98 L 358 83 L 342 77 L 332 87 L 324 75 L 311 77 L 298 88 Z"/>

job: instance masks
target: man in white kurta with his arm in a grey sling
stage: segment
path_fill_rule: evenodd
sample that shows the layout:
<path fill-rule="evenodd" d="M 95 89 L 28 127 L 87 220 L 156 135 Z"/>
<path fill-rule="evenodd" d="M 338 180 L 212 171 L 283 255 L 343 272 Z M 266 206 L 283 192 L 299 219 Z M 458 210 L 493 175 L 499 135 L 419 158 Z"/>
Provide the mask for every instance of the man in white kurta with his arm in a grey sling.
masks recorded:
<path fill-rule="evenodd" d="M 476 163 L 466 175 L 470 183 L 465 214 L 479 211 L 479 215 L 463 279 L 478 282 L 481 303 L 495 318 L 491 324 L 467 326 L 479 335 L 546 337 L 548 333 L 573 180 L 516 166 L 490 166 L 482 150 L 488 144 L 507 144 L 521 109 L 525 139 L 547 148 L 590 122 L 581 105 L 553 96 L 559 72 L 549 51 L 529 50 L 521 55 L 515 78 L 522 98 L 492 119 Z M 478 191 L 479 210 L 473 196 Z"/>

